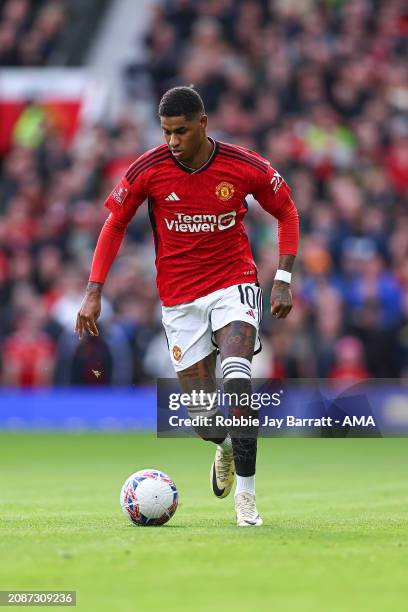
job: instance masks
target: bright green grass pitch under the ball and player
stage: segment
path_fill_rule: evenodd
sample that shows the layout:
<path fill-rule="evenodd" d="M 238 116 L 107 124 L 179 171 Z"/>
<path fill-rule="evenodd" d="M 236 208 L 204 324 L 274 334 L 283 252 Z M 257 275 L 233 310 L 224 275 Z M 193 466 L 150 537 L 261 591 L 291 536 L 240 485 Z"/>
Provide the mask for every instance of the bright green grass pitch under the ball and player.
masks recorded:
<path fill-rule="evenodd" d="M 77 591 L 90 611 L 384 611 L 408 605 L 408 440 L 260 440 L 264 526 L 209 490 L 213 447 L 131 433 L 0 434 L 0 589 Z M 159 468 L 165 526 L 119 508 Z M 19 607 L 19 609 L 22 609 Z"/>

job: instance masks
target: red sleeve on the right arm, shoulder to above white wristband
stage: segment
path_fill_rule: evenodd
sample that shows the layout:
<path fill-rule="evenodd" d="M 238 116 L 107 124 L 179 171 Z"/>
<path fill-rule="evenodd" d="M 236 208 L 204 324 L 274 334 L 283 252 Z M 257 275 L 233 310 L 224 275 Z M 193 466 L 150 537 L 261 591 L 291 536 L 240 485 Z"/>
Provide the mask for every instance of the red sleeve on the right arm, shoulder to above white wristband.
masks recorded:
<path fill-rule="evenodd" d="M 299 244 L 299 216 L 290 197 L 291 189 L 272 166 L 256 173 L 252 195 L 264 210 L 278 220 L 279 254 L 296 255 Z"/>

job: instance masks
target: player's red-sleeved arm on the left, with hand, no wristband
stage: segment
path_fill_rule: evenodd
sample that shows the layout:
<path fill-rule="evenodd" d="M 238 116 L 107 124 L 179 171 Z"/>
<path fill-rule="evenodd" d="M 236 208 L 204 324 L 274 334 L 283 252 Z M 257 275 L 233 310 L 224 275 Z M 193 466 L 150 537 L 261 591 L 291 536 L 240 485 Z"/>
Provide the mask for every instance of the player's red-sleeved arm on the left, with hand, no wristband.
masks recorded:
<path fill-rule="evenodd" d="M 123 178 L 105 201 L 110 215 L 99 234 L 89 282 L 77 314 L 75 331 L 79 338 L 82 338 L 84 331 L 90 336 L 99 335 L 96 321 L 101 314 L 103 285 L 123 242 L 126 228 L 145 199 L 146 188 L 143 177 L 140 177 L 132 186 Z"/>

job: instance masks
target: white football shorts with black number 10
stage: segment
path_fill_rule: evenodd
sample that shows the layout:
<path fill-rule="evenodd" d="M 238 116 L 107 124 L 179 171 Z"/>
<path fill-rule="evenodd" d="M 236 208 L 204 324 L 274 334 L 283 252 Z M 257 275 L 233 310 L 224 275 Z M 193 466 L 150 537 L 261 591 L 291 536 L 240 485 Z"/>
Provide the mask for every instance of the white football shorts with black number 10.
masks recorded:
<path fill-rule="evenodd" d="M 162 306 L 170 358 L 176 372 L 200 361 L 217 347 L 214 332 L 232 321 L 244 321 L 259 330 L 262 289 L 255 283 L 218 289 L 192 302 Z M 255 353 L 261 350 L 259 335 Z"/>

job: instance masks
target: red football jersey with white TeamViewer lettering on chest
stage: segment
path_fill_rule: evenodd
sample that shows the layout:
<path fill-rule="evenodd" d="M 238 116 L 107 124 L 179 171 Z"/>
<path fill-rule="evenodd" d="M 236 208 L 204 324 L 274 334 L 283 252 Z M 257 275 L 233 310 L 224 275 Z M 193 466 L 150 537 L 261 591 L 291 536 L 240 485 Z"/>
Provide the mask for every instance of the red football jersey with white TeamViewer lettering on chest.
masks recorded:
<path fill-rule="evenodd" d="M 114 221 L 125 226 L 148 200 L 165 306 L 257 281 L 243 224 L 248 194 L 279 220 L 280 253 L 297 251 L 297 211 L 282 177 L 258 154 L 212 142 L 210 158 L 197 170 L 178 162 L 166 144 L 148 151 L 105 202 Z M 90 280 L 104 279 L 94 272 Z"/>

